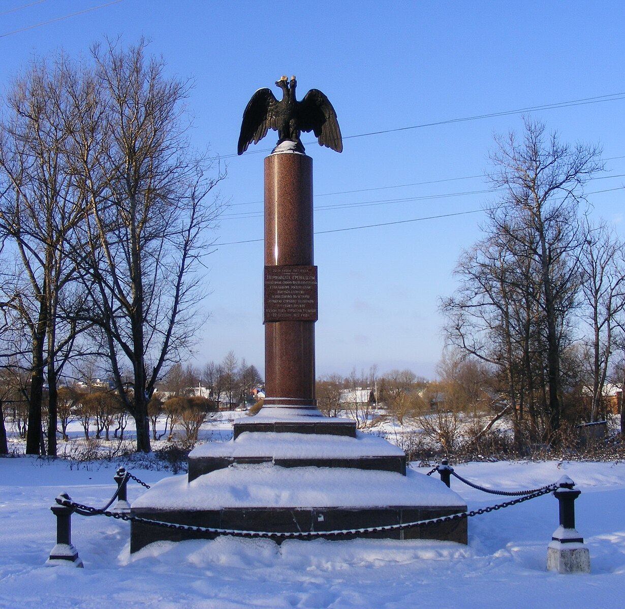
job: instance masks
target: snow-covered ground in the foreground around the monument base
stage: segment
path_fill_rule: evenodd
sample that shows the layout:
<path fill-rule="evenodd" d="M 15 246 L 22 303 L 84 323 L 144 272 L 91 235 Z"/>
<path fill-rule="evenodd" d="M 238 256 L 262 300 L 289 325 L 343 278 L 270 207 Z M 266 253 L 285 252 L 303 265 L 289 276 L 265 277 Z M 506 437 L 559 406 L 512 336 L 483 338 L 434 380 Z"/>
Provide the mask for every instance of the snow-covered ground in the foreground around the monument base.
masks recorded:
<path fill-rule="evenodd" d="M 462 476 L 493 488 L 536 488 L 566 473 L 582 490 L 577 530 L 589 575 L 546 572 L 557 500 L 546 495 L 469 520 L 468 547 L 443 542 L 219 538 L 158 543 L 131 556 L 129 523 L 72 519 L 84 569 L 44 567 L 55 542 L 54 497 L 103 505 L 114 470 L 66 460 L 0 459 L 0 607 L 489 608 L 622 607 L 625 463 L 469 463 Z M 427 469 L 422 470 L 426 472 Z M 134 469 L 148 483 L 163 472 Z M 452 478 L 469 509 L 499 502 Z M 143 488 L 129 485 L 133 500 Z M 505 500 L 505 498 L 503 499 Z"/>

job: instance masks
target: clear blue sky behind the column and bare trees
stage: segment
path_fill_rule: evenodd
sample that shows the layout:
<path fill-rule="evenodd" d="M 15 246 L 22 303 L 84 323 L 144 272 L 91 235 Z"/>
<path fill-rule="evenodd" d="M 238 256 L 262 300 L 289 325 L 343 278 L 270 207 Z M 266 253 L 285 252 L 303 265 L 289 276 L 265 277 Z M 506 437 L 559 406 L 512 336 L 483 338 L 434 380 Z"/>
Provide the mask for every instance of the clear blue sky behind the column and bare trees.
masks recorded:
<path fill-rule="evenodd" d="M 242 157 L 236 142 L 252 93 L 282 74 L 296 74 L 300 96 L 312 87 L 326 93 L 344 136 L 342 154 L 306 145 L 318 374 L 374 364 L 434 373 L 438 299 L 454 290 L 456 260 L 481 235 L 482 207 L 496 201 L 483 177 L 493 134 L 522 126 L 520 113 L 457 119 L 594 98 L 531 115 L 563 141 L 601 144 L 606 172 L 587 184 L 591 215 L 625 236 L 622 1 L 103 4 L 1 0 L 0 86 L 33 56 L 60 47 L 87 53 L 118 34 L 151 39 L 169 74 L 194 81 L 192 140 L 226 164 L 219 189 L 230 204 L 206 259 L 211 316 L 197 329 L 200 365 L 234 350 L 263 367 L 262 158 L 276 139 L 271 132 Z M 51 21 L 58 17 L 66 18 Z M 377 226 L 357 228 L 367 225 Z M 337 229 L 349 230 L 327 232 Z"/>

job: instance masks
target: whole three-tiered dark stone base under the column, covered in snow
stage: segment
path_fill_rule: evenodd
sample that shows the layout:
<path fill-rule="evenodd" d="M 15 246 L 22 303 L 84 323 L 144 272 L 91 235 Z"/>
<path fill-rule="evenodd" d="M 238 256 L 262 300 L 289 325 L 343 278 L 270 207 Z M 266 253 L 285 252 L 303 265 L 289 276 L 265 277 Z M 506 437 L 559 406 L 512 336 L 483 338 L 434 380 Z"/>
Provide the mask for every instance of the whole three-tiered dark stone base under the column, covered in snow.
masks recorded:
<path fill-rule="evenodd" d="M 194 527 L 283 533 L 399 525 L 464 512 L 466 505 L 440 480 L 407 471 L 400 448 L 358 432 L 352 420 L 267 408 L 234 422 L 229 442 L 196 447 L 187 477 L 164 478 L 131 511 Z M 131 552 L 218 534 L 133 522 Z M 327 535 L 353 537 L 467 543 L 467 522 Z"/>

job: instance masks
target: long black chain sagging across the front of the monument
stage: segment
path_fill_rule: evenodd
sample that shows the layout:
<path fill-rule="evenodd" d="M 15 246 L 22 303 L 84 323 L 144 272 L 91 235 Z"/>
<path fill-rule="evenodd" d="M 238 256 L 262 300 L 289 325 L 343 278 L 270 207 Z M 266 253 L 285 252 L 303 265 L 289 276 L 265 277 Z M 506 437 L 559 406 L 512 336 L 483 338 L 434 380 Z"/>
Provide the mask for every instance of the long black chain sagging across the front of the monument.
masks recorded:
<path fill-rule="evenodd" d="M 154 525 L 156 527 L 163 528 L 175 528 L 183 531 L 191 531 L 195 533 L 215 533 L 216 535 L 232 535 L 233 537 L 251 537 L 251 538 L 310 538 L 310 537 L 341 537 L 342 535 L 355 535 L 357 533 L 376 533 L 382 531 L 392 531 L 392 530 L 403 530 L 405 528 L 412 527 L 421 527 L 431 524 L 439 524 L 443 522 L 452 522 L 452 520 L 461 520 L 462 518 L 470 518 L 472 516 L 477 516 L 489 512 L 493 512 L 494 510 L 501 510 L 502 508 L 510 507 L 511 505 L 516 505 L 517 503 L 522 503 L 524 501 L 528 501 L 530 499 L 534 499 L 536 497 L 541 497 L 541 495 L 546 495 L 547 493 L 551 493 L 552 490 L 555 490 L 556 485 L 551 485 L 549 487 L 542 488 L 541 490 L 537 490 L 534 493 L 530 493 L 525 497 L 518 497 L 511 501 L 505 503 L 499 503 L 499 505 L 492 505 L 486 508 L 479 508 L 477 510 L 471 510 L 471 512 L 462 512 L 457 514 L 451 514 L 449 516 L 443 516 L 440 518 L 429 518 L 428 520 L 416 520 L 414 522 L 402 523 L 399 525 L 384 525 L 382 527 L 364 527 L 364 528 L 349 528 L 343 530 L 334 530 L 334 531 L 304 531 L 304 532 L 267 532 L 267 531 L 241 531 L 236 529 L 227 529 L 227 528 L 214 528 L 214 527 L 192 527 L 191 525 L 180 525 L 173 522 L 162 522 L 161 520 L 151 520 L 149 518 L 141 518 L 138 516 L 133 516 L 128 513 L 118 513 L 118 512 L 108 512 L 106 510 L 98 510 L 98 508 L 89 507 L 88 505 L 83 505 L 81 503 L 76 503 L 74 501 L 70 501 L 67 499 L 61 499 L 60 497 L 56 498 L 56 502 L 59 505 L 64 505 L 65 507 L 71 507 L 74 509 L 76 513 L 79 515 L 104 515 L 110 518 L 118 518 L 118 520 L 130 520 L 132 522 L 141 522 L 148 525 Z"/>

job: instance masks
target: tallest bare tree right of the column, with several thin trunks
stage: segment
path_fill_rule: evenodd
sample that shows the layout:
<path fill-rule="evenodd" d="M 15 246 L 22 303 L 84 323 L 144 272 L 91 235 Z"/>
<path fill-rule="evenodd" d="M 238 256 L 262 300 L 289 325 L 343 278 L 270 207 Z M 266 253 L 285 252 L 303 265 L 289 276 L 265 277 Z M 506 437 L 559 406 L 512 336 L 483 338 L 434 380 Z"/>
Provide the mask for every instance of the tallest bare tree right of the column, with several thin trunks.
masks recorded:
<path fill-rule="evenodd" d="M 584 182 L 602 167 L 599 150 L 562 144 L 526 119 L 521 139 L 497 139 L 491 159 L 491 182 L 504 195 L 487 209 L 487 237 L 456 267 L 461 285 L 442 304 L 447 337 L 499 369 L 517 425 L 527 405 L 532 427 L 544 417 L 544 433 L 554 440 L 561 359 L 581 283 L 577 207 Z"/>

